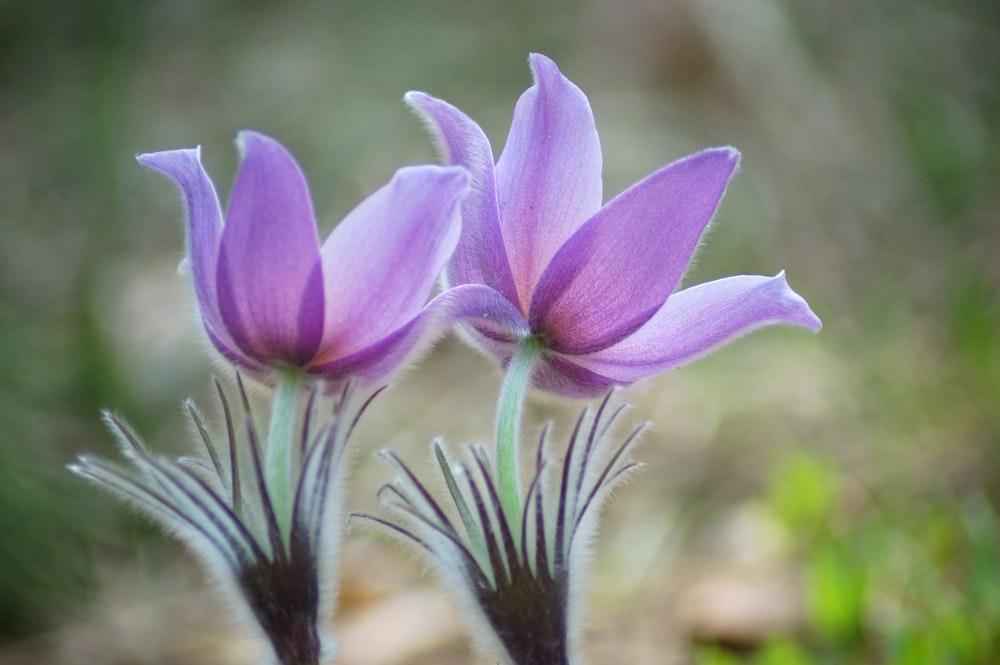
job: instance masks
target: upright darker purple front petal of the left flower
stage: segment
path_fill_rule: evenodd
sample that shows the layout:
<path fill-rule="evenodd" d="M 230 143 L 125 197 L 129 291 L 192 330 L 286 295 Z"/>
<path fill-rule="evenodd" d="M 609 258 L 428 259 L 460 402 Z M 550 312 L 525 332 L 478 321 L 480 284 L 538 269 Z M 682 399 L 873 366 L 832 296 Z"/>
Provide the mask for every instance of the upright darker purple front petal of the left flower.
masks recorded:
<path fill-rule="evenodd" d="M 323 275 L 305 177 L 277 141 L 241 132 L 219 250 L 219 309 L 258 360 L 307 363 L 323 332 Z"/>

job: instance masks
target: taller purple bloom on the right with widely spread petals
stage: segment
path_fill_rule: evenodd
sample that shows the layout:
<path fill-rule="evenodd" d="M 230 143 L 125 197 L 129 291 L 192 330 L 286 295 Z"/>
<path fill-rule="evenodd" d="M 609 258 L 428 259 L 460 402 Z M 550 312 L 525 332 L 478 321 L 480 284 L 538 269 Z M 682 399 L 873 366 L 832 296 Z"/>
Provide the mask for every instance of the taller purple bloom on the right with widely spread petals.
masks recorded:
<path fill-rule="evenodd" d="M 714 148 L 653 172 L 601 205 L 601 147 L 590 104 L 555 63 L 533 54 L 535 84 L 517 103 L 494 166 L 482 129 L 450 104 L 411 92 L 472 190 L 446 269 L 451 285 L 485 284 L 513 323 L 466 326 L 507 365 L 533 344 L 534 385 L 595 396 L 676 368 L 761 326 L 818 330 L 784 273 L 736 276 L 675 292 L 739 161 Z"/>

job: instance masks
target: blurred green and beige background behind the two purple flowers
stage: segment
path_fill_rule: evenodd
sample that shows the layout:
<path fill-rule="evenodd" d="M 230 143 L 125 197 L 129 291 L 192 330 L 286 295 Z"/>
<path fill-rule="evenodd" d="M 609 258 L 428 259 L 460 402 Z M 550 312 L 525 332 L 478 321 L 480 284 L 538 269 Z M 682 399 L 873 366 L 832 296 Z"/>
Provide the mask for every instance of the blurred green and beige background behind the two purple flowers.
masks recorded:
<path fill-rule="evenodd" d="M 180 207 L 138 152 L 283 141 L 325 229 L 432 161 L 419 89 L 503 145 L 539 51 L 589 95 L 610 196 L 743 152 L 689 283 L 786 269 L 824 319 L 630 389 L 655 427 L 610 505 L 592 663 L 1000 659 L 1000 4 L 991 0 L 301 0 L 0 4 L 0 662 L 249 663 L 179 546 L 73 478 L 113 407 L 163 451 L 211 367 Z M 391 446 L 490 432 L 499 374 L 446 340 L 370 414 Z M 578 405 L 540 403 L 560 431 Z M 344 665 L 494 662 L 433 578 L 352 533 Z"/>

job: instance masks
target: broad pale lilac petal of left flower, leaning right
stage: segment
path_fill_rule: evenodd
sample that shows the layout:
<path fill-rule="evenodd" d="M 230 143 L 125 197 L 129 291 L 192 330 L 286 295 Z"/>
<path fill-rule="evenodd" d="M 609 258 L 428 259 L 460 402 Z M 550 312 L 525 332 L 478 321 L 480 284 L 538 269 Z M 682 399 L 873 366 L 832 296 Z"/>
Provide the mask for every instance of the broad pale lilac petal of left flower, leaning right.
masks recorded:
<path fill-rule="evenodd" d="M 458 167 L 403 168 L 323 244 L 322 364 L 366 348 L 416 316 L 461 233 L 468 175 Z"/>

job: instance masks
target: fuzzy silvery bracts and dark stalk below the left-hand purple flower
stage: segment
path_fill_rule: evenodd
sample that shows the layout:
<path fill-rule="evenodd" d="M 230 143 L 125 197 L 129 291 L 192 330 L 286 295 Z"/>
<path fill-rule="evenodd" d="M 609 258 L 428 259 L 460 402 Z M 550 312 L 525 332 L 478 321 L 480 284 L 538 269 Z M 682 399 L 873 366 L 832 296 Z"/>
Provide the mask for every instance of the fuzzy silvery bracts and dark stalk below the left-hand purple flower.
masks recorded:
<path fill-rule="evenodd" d="M 301 391 L 294 376 L 285 378 L 271 403 L 272 415 L 283 420 L 270 423 L 266 445 L 237 377 L 237 408 L 216 382 L 222 443 L 191 402 L 186 411 L 198 451 L 176 459 L 154 455 L 123 420 L 106 414 L 133 468 L 81 456 L 70 470 L 178 535 L 219 580 L 237 615 L 267 639 L 275 662 L 320 665 L 334 649 L 328 626 L 345 522 L 344 456 L 358 419 L 378 392 L 358 406 L 350 384 L 332 398 L 320 398 L 317 387 L 299 428 Z M 275 452 L 267 448 L 275 442 L 285 446 L 280 475 L 271 466 Z"/>

